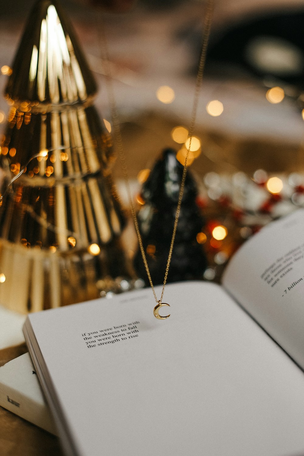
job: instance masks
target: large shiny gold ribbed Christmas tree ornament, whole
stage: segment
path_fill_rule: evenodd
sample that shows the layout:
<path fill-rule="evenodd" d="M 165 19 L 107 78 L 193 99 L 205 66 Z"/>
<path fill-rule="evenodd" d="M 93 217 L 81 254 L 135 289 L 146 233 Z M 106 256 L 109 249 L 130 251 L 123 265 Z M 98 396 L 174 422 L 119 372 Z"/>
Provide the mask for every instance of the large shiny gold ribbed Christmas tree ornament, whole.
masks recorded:
<path fill-rule="evenodd" d="M 103 279 L 129 277 L 96 90 L 59 5 L 38 1 L 6 86 L 0 154 L 0 303 L 16 311 L 93 299 Z"/>

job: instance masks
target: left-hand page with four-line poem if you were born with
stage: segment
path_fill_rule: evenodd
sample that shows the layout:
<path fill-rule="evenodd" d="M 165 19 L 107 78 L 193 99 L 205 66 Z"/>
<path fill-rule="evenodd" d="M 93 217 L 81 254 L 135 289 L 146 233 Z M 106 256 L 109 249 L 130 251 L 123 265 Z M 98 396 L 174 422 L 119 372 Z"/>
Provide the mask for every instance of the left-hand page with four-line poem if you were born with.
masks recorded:
<path fill-rule="evenodd" d="M 28 317 L 77 455 L 302 454 L 303 372 L 220 286 L 165 301 L 165 321 L 150 289 Z"/>

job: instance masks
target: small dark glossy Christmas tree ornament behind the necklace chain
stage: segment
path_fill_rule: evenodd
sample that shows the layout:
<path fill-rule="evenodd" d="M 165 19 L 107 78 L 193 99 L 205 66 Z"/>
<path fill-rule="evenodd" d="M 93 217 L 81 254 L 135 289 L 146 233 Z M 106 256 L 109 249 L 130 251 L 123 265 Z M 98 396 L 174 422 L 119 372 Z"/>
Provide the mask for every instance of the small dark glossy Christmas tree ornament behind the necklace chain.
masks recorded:
<path fill-rule="evenodd" d="M 173 149 L 162 152 L 140 194 L 144 205 L 138 212 L 139 230 L 155 285 L 162 284 L 164 280 L 183 174 L 183 166 L 175 155 Z M 196 240 L 204 225 L 201 210 L 196 204 L 197 194 L 196 182 L 188 171 L 168 282 L 202 279 L 207 267 L 203 247 Z M 148 285 L 140 251 L 135 255 L 134 267 Z"/>

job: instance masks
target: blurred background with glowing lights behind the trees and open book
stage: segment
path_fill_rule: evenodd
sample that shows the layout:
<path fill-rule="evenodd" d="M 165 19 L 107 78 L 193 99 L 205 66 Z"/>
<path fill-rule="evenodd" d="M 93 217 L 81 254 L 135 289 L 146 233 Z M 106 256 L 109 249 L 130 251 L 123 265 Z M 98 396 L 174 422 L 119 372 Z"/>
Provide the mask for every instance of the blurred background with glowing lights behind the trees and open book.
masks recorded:
<path fill-rule="evenodd" d="M 182 164 L 185 160 L 183 135 L 190 124 L 205 2 L 60 3 L 97 79 L 94 104 L 110 131 L 101 59 L 103 15 L 124 150 L 139 209 L 140 186 L 160 152 L 173 148 Z M 33 4 L 33 0 L 15 0 L 1 5 L 1 92 Z M 302 0 L 215 1 L 189 160 L 198 187 L 197 205 L 206 220 L 196 237 L 208 258 L 206 280 L 219 280 L 227 259 L 252 233 L 273 218 L 304 207 L 303 21 Z M 0 127 L 7 112 L 1 98 Z M 128 207 L 119 163 L 112 172 Z M 217 226 L 222 234 L 216 237 Z M 132 228 L 125 230 L 124 237 L 132 260 L 136 252 Z"/>

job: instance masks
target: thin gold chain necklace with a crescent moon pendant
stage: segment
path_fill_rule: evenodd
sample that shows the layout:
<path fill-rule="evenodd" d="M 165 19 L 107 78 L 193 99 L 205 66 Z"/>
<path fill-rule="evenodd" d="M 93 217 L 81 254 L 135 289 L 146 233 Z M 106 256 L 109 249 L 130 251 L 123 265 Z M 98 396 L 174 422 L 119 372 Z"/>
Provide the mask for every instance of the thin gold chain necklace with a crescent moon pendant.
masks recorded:
<path fill-rule="evenodd" d="M 169 273 L 169 268 L 170 268 L 170 262 L 171 262 L 171 257 L 172 257 L 172 252 L 173 252 L 173 246 L 174 246 L 174 241 L 175 241 L 175 234 L 176 234 L 176 229 L 177 229 L 177 223 L 178 219 L 180 217 L 180 207 L 181 207 L 181 201 L 183 198 L 184 194 L 184 189 L 185 189 L 185 179 L 186 179 L 186 174 L 187 174 L 187 161 L 188 161 L 188 156 L 189 152 L 191 149 L 191 140 L 192 140 L 192 135 L 194 131 L 194 126 L 196 122 L 196 112 L 197 112 L 197 105 L 198 105 L 198 98 L 201 90 L 201 83 L 203 79 L 203 74 L 204 74 L 204 68 L 205 68 L 205 62 L 206 62 L 206 52 L 207 52 L 207 46 L 208 46 L 208 41 L 209 41 L 209 36 L 210 36 L 210 31 L 211 31 L 211 22 L 212 22 L 212 14 L 213 14 L 213 6 L 214 6 L 214 0 L 208 0 L 207 5 L 206 5 L 206 14 L 205 14 L 205 20 L 204 20 L 204 31 L 203 31 L 203 37 L 202 37 L 202 47 L 201 47 L 201 57 L 199 61 L 199 67 L 196 75 L 196 84 L 195 84 L 195 90 L 194 90 L 194 99 L 193 99 L 193 106 L 192 106 L 192 114 L 191 114 L 191 122 L 190 122 L 190 128 L 189 128 L 189 147 L 187 149 L 186 157 L 185 157 L 185 164 L 183 168 L 183 174 L 182 174 L 182 179 L 180 183 L 180 192 L 179 192 L 179 197 L 178 197 L 178 202 L 177 202 L 177 207 L 176 207 L 176 214 L 175 214 L 175 221 L 174 221 L 174 227 L 173 227 L 173 233 L 172 233 L 172 238 L 171 238 L 171 243 L 170 243 L 170 249 L 169 249 L 169 255 L 167 259 L 167 264 L 166 264 L 166 269 L 165 269 L 165 277 L 164 277 L 164 282 L 163 282 L 163 287 L 161 290 L 161 295 L 160 299 L 157 299 L 154 285 L 151 279 L 150 271 L 149 271 L 149 266 L 148 262 L 146 259 L 146 255 L 144 253 L 144 246 L 142 242 L 142 238 L 140 235 L 139 231 L 139 225 L 138 225 L 138 220 L 136 216 L 136 211 L 134 207 L 134 202 L 133 198 L 131 195 L 130 191 L 130 186 L 129 186 L 129 175 L 128 175 L 128 168 L 127 168 L 127 162 L 126 162 L 126 157 L 124 155 L 124 147 L 123 147 L 123 140 L 121 136 L 121 130 L 120 130 L 120 122 L 119 122 L 119 116 L 118 116 L 118 110 L 116 106 L 116 101 L 114 97 L 114 90 L 113 90 L 113 84 L 112 84 L 112 73 L 111 73 L 111 67 L 110 67 L 110 60 L 109 60 L 109 53 L 108 53 L 108 42 L 106 35 L 104 33 L 104 25 L 103 21 L 102 22 L 102 27 L 98 28 L 98 30 L 101 32 L 101 38 L 102 38 L 102 61 L 103 61 L 103 66 L 104 66 L 104 73 L 105 73 L 105 78 L 106 78 L 106 83 L 107 83 L 107 89 L 108 89 L 108 99 L 109 99 L 109 104 L 110 104 L 110 109 L 111 109 L 111 115 L 112 115 L 112 123 L 113 123 L 113 131 L 114 131 L 114 140 L 115 140 L 115 148 L 117 150 L 119 160 L 121 163 L 122 171 L 124 174 L 124 181 L 126 184 L 127 192 L 128 192 L 128 198 L 129 198 L 129 203 L 131 207 L 131 214 L 134 222 L 134 227 L 136 231 L 136 236 L 138 239 L 139 243 L 139 249 L 141 252 L 141 256 L 143 258 L 144 262 L 144 267 L 149 279 L 149 284 L 151 286 L 155 301 L 156 301 L 156 306 L 154 307 L 153 313 L 156 318 L 159 320 L 165 320 L 170 316 L 161 316 L 159 314 L 160 308 L 164 306 L 169 306 L 170 304 L 167 304 L 165 302 L 162 302 L 164 291 L 165 291 L 165 285 L 167 283 L 167 277 Z"/>

